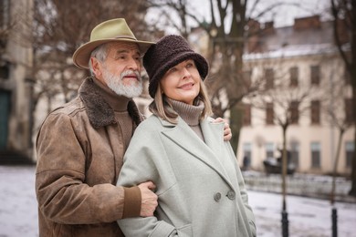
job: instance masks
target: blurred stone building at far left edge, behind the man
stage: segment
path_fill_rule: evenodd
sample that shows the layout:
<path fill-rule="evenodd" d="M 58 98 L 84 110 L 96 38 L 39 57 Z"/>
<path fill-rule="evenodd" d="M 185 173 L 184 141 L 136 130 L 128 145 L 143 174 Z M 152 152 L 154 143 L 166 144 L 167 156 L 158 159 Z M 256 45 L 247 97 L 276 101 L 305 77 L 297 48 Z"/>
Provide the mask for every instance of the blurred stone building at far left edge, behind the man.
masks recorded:
<path fill-rule="evenodd" d="M 0 1 L 0 157 L 32 158 L 32 0 Z"/>

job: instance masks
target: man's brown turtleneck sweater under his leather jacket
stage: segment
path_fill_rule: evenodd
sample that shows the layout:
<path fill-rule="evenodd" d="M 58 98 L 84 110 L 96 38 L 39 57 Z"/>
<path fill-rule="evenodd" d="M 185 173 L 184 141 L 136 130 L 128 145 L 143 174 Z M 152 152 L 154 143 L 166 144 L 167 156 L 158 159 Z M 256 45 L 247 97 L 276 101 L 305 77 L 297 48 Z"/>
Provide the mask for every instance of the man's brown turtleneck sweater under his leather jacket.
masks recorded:
<path fill-rule="evenodd" d="M 104 98 L 105 101 L 110 105 L 110 108 L 114 110 L 115 119 L 122 130 L 123 146 L 124 150 L 126 151 L 133 134 L 133 121 L 129 114 L 129 111 L 127 110 L 131 98 L 126 98 L 117 95 L 114 91 L 104 86 L 96 78 L 93 78 L 93 81 L 95 85 L 97 85 L 102 90 L 102 98 Z"/>

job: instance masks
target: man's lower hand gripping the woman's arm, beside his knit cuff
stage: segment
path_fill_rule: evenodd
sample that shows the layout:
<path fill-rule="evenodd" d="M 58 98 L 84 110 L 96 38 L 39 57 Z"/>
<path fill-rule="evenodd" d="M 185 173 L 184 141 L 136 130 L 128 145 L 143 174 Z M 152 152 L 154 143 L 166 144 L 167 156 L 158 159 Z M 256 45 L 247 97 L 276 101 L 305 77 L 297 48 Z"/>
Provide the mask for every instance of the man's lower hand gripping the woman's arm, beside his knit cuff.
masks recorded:
<path fill-rule="evenodd" d="M 138 185 L 141 191 L 141 217 L 149 217 L 153 215 L 158 205 L 158 197 L 153 192 L 156 188 L 152 181 L 142 182 Z"/>

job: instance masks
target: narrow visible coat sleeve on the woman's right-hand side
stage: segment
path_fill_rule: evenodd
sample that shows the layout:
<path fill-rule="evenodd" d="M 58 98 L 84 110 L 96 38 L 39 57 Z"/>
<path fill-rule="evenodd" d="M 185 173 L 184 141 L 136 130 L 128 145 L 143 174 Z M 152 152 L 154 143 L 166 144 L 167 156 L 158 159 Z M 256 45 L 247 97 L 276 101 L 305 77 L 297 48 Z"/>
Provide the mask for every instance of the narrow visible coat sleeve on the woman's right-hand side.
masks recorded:
<path fill-rule="evenodd" d="M 240 195 L 241 195 L 244 207 L 245 207 L 246 216 L 247 216 L 247 219 L 248 219 L 248 224 L 250 226 L 250 230 L 251 230 L 253 236 L 257 236 L 255 214 L 252 211 L 251 206 L 248 204 L 248 195 L 247 195 L 247 191 L 246 191 L 244 177 L 242 176 L 242 172 L 240 170 L 240 167 L 238 166 L 238 163 L 237 163 L 237 160 L 236 160 L 236 156 L 234 154 L 234 150 L 232 149 L 232 147 L 230 145 L 230 142 L 229 141 L 225 141 L 224 143 L 225 143 L 225 146 L 227 146 L 227 149 L 230 150 L 230 153 L 232 154 L 231 157 L 233 157 L 233 159 L 235 161 L 234 163 L 235 163 L 238 187 L 240 189 Z"/>

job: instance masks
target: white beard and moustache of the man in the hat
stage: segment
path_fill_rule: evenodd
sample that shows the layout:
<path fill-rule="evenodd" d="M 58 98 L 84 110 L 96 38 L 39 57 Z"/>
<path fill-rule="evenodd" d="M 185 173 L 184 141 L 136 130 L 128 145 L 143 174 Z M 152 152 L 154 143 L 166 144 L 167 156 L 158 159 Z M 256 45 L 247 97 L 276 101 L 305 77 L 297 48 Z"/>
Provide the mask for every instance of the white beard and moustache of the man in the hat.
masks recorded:
<path fill-rule="evenodd" d="M 122 78 L 131 73 L 136 74 L 138 82 L 132 81 L 130 85 L 124 85 L 122 83 Z M 104 78 L 106 84 L 110 89 L 112 89 L 119 96 L 124 96 L 126 98 L 136 98 L 139 97 L 142 93 L 143 86 L 141 75 L 138 71 L 126 70 L 123 71 L 120 77 L 113 75 L 103 67 L 102 77 Z"/>

